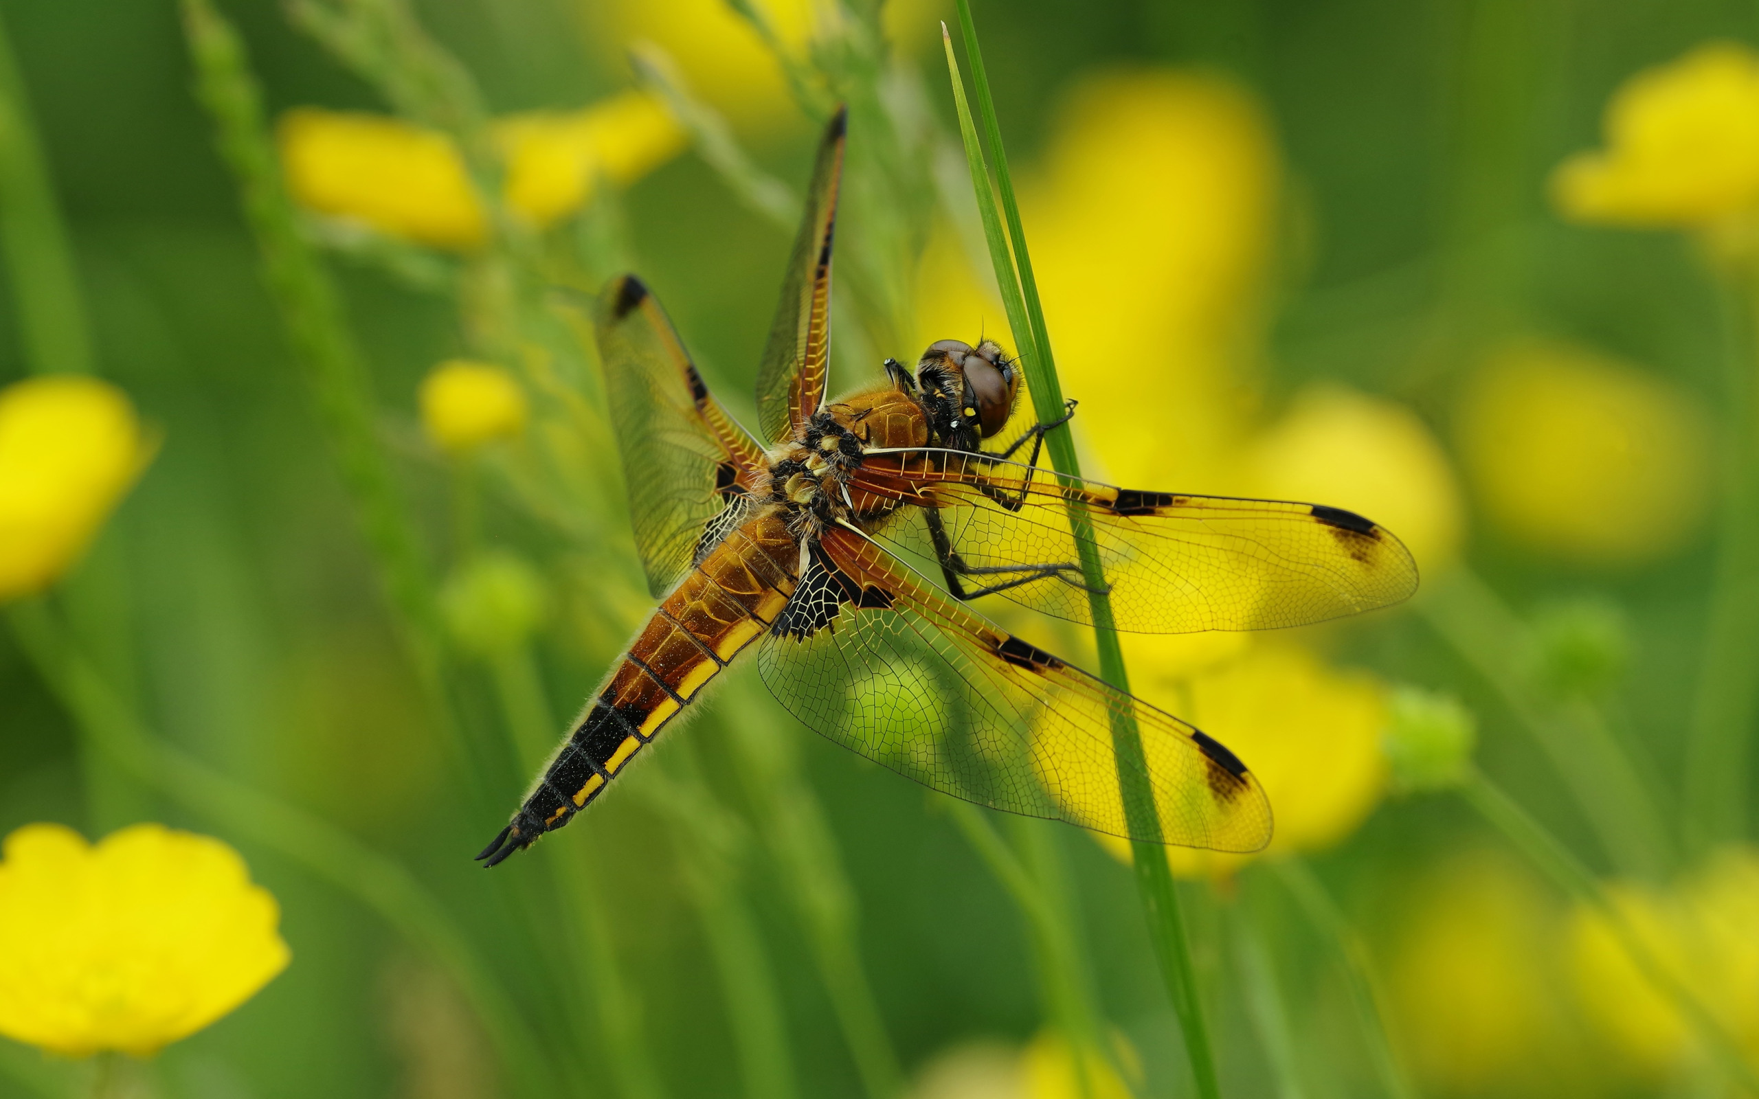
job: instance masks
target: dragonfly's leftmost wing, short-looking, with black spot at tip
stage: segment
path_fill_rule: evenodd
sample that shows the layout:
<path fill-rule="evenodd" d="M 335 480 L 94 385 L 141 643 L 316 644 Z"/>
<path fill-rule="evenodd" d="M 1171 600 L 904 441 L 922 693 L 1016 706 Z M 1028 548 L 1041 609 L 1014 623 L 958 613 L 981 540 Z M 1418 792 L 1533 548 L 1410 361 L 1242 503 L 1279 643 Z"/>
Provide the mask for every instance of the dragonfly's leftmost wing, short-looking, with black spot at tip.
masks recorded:
<path fill-rule="evenodd" d="M 658 596 L 746 519 L 763 448 L 709 394 L 639 278 L 612 280 L 593 320 L 635 545 Z"/>

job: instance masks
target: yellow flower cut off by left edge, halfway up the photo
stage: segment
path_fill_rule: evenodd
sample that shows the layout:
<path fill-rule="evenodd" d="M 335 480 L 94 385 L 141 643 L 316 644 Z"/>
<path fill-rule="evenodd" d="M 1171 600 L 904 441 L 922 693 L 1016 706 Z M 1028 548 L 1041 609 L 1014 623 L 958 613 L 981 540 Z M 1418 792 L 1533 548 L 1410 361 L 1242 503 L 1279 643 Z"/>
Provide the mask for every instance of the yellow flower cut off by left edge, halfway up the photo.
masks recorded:
<path fill-rule="evenodd" d="M 114 385 L 56 375 L 0 389 L 0 601 L 67 571 L 151 450 Z"/>

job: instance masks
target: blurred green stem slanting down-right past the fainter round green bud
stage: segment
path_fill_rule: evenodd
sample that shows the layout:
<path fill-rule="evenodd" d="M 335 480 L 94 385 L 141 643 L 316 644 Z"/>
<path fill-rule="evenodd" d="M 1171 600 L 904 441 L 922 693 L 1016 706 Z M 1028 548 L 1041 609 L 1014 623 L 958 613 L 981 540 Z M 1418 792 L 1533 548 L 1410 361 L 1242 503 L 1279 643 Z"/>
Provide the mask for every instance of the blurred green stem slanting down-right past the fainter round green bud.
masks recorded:
<path fill-rule="evenodd" d="M 1675 853 L 1655 798 L 1597 710 L 1548 705 L 1527 686 L 1522 659 L 1534 640 L 1525 622 L 1463 566 L 1432 579 L 1416 608 L 1534 737 L 1613 865 L 1648 881 L 1664 877 Z"/>

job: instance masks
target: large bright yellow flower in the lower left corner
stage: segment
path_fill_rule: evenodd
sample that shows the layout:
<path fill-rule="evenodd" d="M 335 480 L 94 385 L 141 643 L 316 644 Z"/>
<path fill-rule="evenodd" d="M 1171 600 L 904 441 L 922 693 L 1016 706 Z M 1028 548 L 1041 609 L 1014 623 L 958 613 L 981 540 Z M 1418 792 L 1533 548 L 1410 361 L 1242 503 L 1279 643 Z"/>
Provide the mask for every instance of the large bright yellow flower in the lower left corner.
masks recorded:
<path fill-rule="evenodd" d="M 62 825 L 0 862 L 0 1034 L 55 1053 L 144 1057 L 257 993 L 288 962 L 280 909 L 216 839 Z"/>

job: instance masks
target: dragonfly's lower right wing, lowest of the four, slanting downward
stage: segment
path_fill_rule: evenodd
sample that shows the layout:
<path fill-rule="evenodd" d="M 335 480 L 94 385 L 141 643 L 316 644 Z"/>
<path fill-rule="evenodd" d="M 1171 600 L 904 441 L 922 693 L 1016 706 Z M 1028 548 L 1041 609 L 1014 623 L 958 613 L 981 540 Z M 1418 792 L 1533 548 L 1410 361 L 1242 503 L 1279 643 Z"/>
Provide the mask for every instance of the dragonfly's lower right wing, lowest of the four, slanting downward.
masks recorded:
<path fill-rule="evenodd" d="M 1147 807 L 1126 811 L 1112 728 L 1133 716 L 1163 842 L 1270 841 L 1270 804 L 1226 747 L 996 628 L 850 531 L 814 547 L 758 666 L 800 721 L 925 786 L 1126 837 Z"/>

